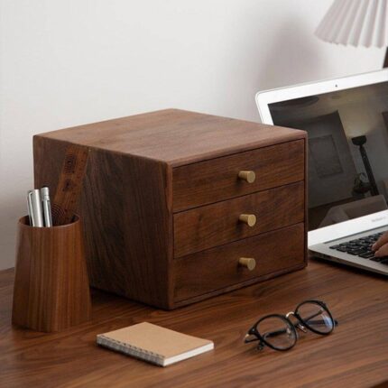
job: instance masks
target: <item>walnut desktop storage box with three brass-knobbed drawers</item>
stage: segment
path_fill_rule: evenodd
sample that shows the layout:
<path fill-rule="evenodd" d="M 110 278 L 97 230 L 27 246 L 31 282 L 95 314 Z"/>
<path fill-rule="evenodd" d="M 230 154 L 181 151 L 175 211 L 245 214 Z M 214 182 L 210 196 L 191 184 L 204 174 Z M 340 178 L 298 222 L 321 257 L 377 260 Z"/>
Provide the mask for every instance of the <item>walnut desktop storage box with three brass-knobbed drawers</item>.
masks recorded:
<path fill-rule="evenodd" d="M 34 136 L 36 187 L 69 143 L 90 149 L 93 287 L 174 309 L 306 265 L 305 132 L 176 109 L 81 125 Z"/>

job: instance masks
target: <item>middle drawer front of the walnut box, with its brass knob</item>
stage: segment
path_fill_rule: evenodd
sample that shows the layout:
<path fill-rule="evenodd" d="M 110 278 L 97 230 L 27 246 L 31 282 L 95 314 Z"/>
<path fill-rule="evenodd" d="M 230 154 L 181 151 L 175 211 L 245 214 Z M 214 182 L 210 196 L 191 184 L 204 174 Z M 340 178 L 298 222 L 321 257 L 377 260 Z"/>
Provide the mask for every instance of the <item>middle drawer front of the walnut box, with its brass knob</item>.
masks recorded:
<path fill-rule="evenodd" d="M 174 215 L 174 256 L 193 254 L 303 221 L 303 181 L 193 208 Z"/>

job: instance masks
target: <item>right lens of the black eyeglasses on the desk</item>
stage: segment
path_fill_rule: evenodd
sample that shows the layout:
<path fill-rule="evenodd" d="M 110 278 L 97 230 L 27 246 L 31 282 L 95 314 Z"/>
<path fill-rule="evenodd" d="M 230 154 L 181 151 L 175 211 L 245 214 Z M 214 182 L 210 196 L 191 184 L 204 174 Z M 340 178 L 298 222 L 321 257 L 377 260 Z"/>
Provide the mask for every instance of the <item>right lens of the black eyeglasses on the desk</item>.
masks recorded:
<path fill-rule="evenodd" d="M 334 328 L 334 321 L 328 309 L 314 301 L 307 301 L 300 304 L 295 313 L 304 320 L 309 328 L 321 334 L 328 334 Z"/>

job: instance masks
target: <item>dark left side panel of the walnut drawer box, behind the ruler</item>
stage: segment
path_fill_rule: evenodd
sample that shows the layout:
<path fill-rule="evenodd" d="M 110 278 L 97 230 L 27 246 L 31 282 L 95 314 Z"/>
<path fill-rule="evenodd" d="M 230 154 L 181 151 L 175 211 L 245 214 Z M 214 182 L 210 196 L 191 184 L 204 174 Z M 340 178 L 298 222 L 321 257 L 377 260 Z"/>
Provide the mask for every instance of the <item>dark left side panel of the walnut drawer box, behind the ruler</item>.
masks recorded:
<path fill-rule="evenodd" d="M 55 190 L 65 150 L 63 143 L 34 137 L 35 186 Z M 44 162 L 48 154 L 51 163 Z M 169 171 L 162 162 L 89 151 L 78 213 L 86 231 L 91 286 L 170 308 Z"/>

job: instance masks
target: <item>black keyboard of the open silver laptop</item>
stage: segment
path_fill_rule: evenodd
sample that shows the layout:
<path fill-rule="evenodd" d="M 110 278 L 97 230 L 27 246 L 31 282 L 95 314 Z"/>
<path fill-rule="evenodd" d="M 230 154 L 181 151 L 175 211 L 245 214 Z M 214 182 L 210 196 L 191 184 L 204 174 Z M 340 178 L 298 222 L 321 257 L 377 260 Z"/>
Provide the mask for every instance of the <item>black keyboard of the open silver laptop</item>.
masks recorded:
<path fill-rule="evenodd" d="M 355 256 L 362 257 L 365 260 L 372 260 L 374 262 L 388 265 L 388 256 L 374 257 L 374 251 L 372 251 L 372 245 L 374 245 L 374 243 L 379 239 L 380 236 L 383 235 L 384 232 L 386 231 L 357 238 L 356 240 L 350 240 L 346 243 L 331 245 L 329 248 L 335 249 L 339 252 L 344 252 L 346 254 L 353 254 Z"/>

